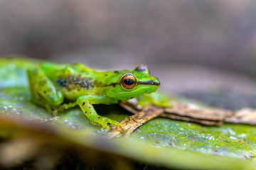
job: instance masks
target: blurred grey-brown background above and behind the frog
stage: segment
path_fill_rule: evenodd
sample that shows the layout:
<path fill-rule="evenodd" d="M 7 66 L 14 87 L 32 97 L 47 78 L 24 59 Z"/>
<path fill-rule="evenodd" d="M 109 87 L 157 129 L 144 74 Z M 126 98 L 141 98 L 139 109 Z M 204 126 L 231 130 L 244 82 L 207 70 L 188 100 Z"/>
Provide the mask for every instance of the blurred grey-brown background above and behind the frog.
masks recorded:
<path fill-rule="evenodd" d="M 0 0 L 0 55 L 97 69 L 148 64 L 164 90 L 254 91 L 255 18 L 254 0 Z"/>

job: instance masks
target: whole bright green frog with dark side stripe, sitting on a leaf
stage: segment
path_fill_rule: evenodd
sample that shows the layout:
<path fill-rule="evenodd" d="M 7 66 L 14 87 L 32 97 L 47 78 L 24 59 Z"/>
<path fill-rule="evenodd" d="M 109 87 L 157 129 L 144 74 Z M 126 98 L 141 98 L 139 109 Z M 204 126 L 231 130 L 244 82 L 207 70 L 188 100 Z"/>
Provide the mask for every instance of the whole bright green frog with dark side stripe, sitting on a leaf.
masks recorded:
<path fill-rule="evenodd" d="M 92 104 L 127 101 L 159 88 L 160 82 L 145 65 L 134 70 L 97 72 L 83 64 L 42 62 L 28 69 L 31 100 L 49 112 L 79 105 L 91 123 L 103 128 L 121 125 L 97 115 Z M 71 102 L 71 103 L 67 103 Z"/>

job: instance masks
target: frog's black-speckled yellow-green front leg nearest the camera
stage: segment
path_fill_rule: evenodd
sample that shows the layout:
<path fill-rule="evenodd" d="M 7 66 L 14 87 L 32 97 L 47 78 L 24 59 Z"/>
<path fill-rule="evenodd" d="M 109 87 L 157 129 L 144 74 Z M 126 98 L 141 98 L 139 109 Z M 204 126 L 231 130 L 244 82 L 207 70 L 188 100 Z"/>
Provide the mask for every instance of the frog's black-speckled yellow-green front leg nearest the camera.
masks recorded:
<path fill-rule="evenodd" d="M 105 96 L 97 96 L 97 95 L 88 95 L 88 96 L 80 96 L 78 98 L 78 104 L 82 109 L 82 112 L 85 113 L 87 118 L 90 120 L 90 123 L 95 124 L 99 123 L 103 128 L 110 130 L 111 125 L 122 126 L 121 123 L 118 123 L 115 120 L 111 120 L 109 118 L 105 118 L 97 114 L 92 104 L 100 104 L 104 103 Z"/>

